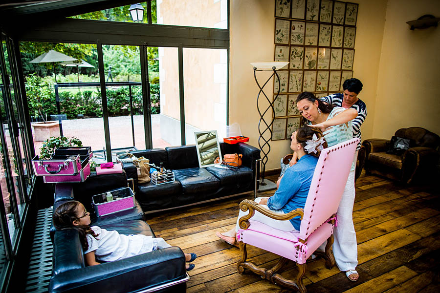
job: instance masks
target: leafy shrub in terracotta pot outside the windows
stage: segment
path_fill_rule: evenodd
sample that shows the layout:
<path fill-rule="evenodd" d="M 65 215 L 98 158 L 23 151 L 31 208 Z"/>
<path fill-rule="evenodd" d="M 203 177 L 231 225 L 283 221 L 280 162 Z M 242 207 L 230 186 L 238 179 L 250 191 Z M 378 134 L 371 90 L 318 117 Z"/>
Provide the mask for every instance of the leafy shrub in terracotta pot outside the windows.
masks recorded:
<path fill-rule="evenodd" d="M 26 77 L 26 96 L 29 105 L 29 112 L 36 120 L 34 127 L 35 141 L 41 142 L 57 133 L 60 133 L 58 121 L 47 122 L 47 110 L 52 100 L 52 90 L 48 82 L 44 81 L 35 73 Z"/>

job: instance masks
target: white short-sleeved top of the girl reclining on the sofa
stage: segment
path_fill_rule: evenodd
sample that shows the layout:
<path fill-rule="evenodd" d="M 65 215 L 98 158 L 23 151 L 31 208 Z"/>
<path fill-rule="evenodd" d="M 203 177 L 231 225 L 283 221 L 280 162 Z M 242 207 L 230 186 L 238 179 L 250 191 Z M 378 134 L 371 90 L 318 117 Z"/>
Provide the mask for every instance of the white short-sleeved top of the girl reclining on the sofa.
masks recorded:
<path fill-rule="evenodd" d="M 95 251 L 95 257 L 102 261 L 115 261 L 138 255 L 144 243 L 150 242 L 153 249 L 153 237 L 145 235 L 124 235 L 118 231 L 108 231 L 98 226 L 90 227 L 98 236 L 86 235 L 88 250 Z M 145 251 L 144 251 L 145 252 Z"/>

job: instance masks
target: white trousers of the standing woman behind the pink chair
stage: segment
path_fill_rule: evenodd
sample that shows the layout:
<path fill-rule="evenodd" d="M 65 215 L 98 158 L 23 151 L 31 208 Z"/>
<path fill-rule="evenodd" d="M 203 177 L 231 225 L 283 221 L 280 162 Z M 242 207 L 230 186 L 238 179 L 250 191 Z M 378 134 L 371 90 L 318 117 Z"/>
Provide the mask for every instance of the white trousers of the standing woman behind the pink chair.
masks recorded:
<path fill-rule="evenodd" d="M 354 154 L 355 164 L 356 160 L 357 151 Z M 358 264 L 356 232 L 354 231 L 353 224 L 354 197 L 354 171 L 350 171 L 337 212 L 338 226 L 334 228 L 333 243 L 333 254 L 336 265 L 339 270 L 344 272 L 354 270 Z"/>

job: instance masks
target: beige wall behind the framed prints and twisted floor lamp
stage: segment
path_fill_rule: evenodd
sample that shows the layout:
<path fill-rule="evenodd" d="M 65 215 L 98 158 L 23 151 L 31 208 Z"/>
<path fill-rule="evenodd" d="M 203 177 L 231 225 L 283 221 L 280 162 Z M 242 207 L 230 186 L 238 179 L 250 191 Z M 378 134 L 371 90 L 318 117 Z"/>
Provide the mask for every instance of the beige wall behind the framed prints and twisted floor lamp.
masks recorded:
<path fill-rule="evenodd" d="M 369 116 L 362 126 L 363 136 L 373 133 L 374 108 L 378 67 L 383 39 L 386 1 L 359 0 L 353 76 L 359 78 L 364 89 L 359 97 L 367 104 Z M 258 87 L 254 81 L 251 62 L 273 61 L 273 34 L 275 26 L 272 0 L 230 1 L 230 71 L 229 71 L 229 124 L 239 123 L 249 143 L 258 147 L 256 109 Z M 269 74 L 258 73 L 263 82 Z M 273 83 L 267 86 L 269 99 Z M 269 94 L 270 93 L 270 94 Z M 262 103 L 263 105 L 264 103 Z M 267 116 L 270 120 L 270 116 Z M 290 152 L 289 141 L 273 141 L 266 169 L 280 167 L 280 158 Z"/>

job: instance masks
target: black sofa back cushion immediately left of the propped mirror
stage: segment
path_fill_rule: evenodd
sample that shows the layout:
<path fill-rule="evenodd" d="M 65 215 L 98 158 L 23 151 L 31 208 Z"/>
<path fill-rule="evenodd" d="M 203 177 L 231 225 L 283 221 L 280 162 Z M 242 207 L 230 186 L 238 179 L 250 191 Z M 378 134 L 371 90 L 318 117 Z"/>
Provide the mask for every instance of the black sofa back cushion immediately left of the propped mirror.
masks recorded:
<path fill-rule="evenodd" d="M 168 168 L 171 170 L 199 167 L 197 149 L 190 146 L 168 146 Z"/>

